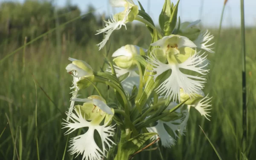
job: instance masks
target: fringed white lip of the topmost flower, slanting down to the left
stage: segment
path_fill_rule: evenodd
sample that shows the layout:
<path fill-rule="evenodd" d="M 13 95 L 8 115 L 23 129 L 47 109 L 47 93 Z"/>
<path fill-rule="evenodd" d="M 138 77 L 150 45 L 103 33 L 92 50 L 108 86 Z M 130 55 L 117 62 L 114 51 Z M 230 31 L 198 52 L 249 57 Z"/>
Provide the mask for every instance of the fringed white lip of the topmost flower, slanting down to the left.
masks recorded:
<path fill-rule="evenodd" d="M 100 33 L 105 32 L 104 39 L 102 40 L 102 42 L 97 44 L 97 46 L 99 46 L 99 50 L 105 46 L 110 35 L 112 34 L 112 32 L 114 30 L 121 29 L 122 26 L 125 26 L 125 29 L 126 29 L 125 21 L 128 17 L 129 12 L 131 12 L 131 10 L 127 9 L 126 15 L 125 15 L 124 19 L 122 19 L 122 20 L 117 21 L 114 18 L 114 16 L 112 16 L 108 21 L 104 21 L 106 23 L 105 28 L 97 30 L 98 33 L 96 33 L 96 35 L 98 35 Z"/>

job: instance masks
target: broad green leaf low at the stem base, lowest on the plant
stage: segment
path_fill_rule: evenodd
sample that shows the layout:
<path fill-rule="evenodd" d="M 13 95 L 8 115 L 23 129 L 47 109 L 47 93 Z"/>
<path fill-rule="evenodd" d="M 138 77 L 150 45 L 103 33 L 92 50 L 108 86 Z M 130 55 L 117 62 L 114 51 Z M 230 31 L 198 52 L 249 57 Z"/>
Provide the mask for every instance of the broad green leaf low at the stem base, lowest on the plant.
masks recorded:
<path fill-rule="evenodd" d="M 122 151 L 128 153 L 128 155 L 134 154 L 136 151 L 140 150 L 142 145 L 149 140 L 151 137 L 157 133 L 143 133 L 139 134 L 122 145 Z"/>

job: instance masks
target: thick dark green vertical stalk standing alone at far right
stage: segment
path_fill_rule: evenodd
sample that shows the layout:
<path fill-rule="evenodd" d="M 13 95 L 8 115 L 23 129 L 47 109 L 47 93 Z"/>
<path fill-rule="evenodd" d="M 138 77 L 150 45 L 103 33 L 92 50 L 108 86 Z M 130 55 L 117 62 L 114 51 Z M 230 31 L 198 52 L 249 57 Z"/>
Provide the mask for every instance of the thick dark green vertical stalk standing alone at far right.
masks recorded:
<path fill-rule="evenodd" d="M 247 106 L 246 106 L 246 66 L 245 66 L 245 29 L 244 29 L 244 0 L 241 2 L 241 44 L 242 44 L 242 106 L 243 106 L 243 136 L 242 136 L 242 148 L 243 152 L 247 147 Z"/>

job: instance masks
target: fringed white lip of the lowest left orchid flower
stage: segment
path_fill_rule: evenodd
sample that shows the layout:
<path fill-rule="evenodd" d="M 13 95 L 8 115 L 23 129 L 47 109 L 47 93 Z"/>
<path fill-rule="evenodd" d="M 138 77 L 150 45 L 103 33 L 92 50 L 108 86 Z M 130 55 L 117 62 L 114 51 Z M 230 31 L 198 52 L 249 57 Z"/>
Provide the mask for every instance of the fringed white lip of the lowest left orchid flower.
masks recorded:
<path fill-rule="evenodd" d="M 96 106 L 98 107 L 98 106 Z M 90 108 L 92 109 L 92 108 Z M 92 109 L 91 112 L 93 112 Z M 76 110 L 76 114 L 71 112 L 70 119 L 71 122 L 64 120 L 62 123 L 64 125 L 63 128 L 69 128 L 65 134 L 70 134 L 73 131 L 88 127 L 88 130 L 85 134 L 81 134 L 77 137 L 71 138 L 70 140 L 70 154 L 79 154 L 83 155 L 82 160 L 102 160 L 105 157 L 105 152 L 108 151 L 113 145 L 116 145 L 110 137 L 114 135 L 114 126 L 108 126 L 108 122 L 105 122 L 104 125 L 99 125 L 99 123 L 105 118 L 106 114 L 101 115 L 98 121 L 90 121 L 88 122 L 85 119 L 86 113 L 82 114 L 81 107 L 79 106 Z M 66 113 L 68 115 L 68 113 Z M 91 119 L 90 119 L 91 120 Z M 94 140 L 94 132 L 95 130 L 99 133 L 100 138 L 102 140 L 102 149 L 96 144 Z M 108 148 L 108 149 L 107 149 Z M 76 156 L 76 157 L 77 157 Z"/>

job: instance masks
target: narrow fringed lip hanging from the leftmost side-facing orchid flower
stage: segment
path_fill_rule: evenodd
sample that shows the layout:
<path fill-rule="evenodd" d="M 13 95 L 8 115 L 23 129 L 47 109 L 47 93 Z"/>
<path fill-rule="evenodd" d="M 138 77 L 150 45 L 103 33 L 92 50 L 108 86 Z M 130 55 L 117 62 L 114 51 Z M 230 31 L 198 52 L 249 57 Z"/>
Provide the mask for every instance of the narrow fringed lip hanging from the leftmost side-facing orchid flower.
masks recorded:
<path fill-rule="evenodd" d="M 76 75 L 77 73 L 75 71 L 73 71 L 73 75 Z M 79 78 L 73 76 L 73 84 L 72 84 L 72 87 L 70 87 L 70 90 L 73 90 L 71 93 L 72 93 L 72 96 L 70 98 L 70 101 L 71 99 L 76 99 L 78 97 L 78 91 L 79 91 L 79 87 L 76 86 L 76 82 L 79 81 Z M 72 113 L 73 111 L 73 108 L 74 108 L 74 105 L 75 105 L 75 102 L 74 101 L 71 101 L 70 102 L 70 108 L 68 109 L 68 114 L 67 114 L 67 121 L 69 120 L 70 118 L 70 113 Z"/>

